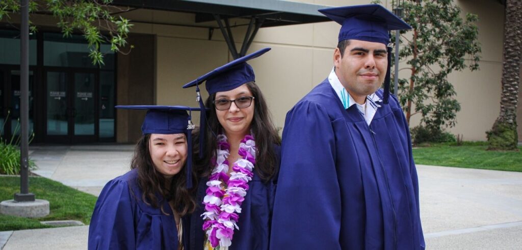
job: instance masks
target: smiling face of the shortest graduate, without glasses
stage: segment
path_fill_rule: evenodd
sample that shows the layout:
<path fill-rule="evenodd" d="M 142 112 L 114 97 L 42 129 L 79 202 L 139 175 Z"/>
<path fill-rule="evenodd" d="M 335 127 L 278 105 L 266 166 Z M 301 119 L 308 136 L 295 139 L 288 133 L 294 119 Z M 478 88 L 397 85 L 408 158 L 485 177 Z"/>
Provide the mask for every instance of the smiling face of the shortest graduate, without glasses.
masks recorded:
<path fill-rule="evenodd" d="M 152 163 L 165 178 L 175 176 L 187 160 L 185 134 L 150 134 L 149 152 Z"/>

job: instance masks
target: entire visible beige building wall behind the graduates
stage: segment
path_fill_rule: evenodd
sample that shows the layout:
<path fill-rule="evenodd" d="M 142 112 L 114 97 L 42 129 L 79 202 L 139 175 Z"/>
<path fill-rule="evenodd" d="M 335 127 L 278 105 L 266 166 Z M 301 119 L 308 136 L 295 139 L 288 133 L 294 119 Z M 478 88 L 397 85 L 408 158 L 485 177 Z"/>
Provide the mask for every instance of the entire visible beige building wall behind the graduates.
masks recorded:
<path fill-rule="evenodd" d="M 299 2 L 331 6 L 346 4 L 346 1 L 334 0 Z M 369 2 L 353 1 L 350 4 Z M 391 5 L 391 1 L 382 2 Z M 458 0 L 456 3 L 462 8 L 463 15 L 472 12 L 480 17 L 482 58 L 480 70 L 455 72 L 449 77 L 461 104 L 457 126 L 449 131 L 463 134 L 465 140 L 483 141 L 486 140 L 485 131 L 491 128 L 500 110 L 503 6 L 491 0 Z M 172 18 L 172 13 L 169 15 Z M 182 14 L 179 19 L 185 22 L 193 20 L 189 15 Z M 161 15 L 155 14 L 153 18 L 161 19 Z M 267 98 L 277 127 L 283 127 L 287 111 L 328 76 L 333 67 L 333 50 L 339 28 L 337 23 L 324 22 L 262 28 L 257 33 L 249 52 L 263 47 L 272 50 L 249 63 L 254 67 L 256 82 Z M 207 29 L 201 28 L 137 24 L 134 31 L 137 30 L 157 35 L 157 104 L 197 105 L 194 89 L 182 90 L 181 86 L 232 60 L 219 30 L 214 32 L 211 40 L 208 40 Z M 235 28 L 233 32 L 235 40 L 242 41 L 244 29 Z M 413 116 L 411 126 L 419 124 L 419 120 L 419 115 Z"/>

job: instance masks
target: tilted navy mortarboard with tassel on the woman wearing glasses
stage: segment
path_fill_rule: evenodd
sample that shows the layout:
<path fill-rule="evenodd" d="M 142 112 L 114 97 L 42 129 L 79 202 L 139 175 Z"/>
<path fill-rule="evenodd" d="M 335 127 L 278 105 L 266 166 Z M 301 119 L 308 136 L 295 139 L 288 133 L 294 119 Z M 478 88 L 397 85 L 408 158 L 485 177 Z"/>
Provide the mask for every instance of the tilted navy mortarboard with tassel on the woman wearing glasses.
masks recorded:
<path fill-rule="evenodd" d="M 206 126 L 206 114 L 205 114 L 205 105 L 203 104 L 203 100 L 201 100 L 201 94 L 199 93 L 199 84 L 207 81 L 205 84 L 205 88 L 207 89 L 208 94 L 214 94 L 222 91 L 229 91 L 239 86 L 247 83 L 255 81 L 254 69 L 252 66 L 248 65 L 246 61 L 250 59 L 254 59 L 260 55 L 267 53 L 271 48 L 263 48 L 258 51 L 248 54 L 246 56 L 240 57 L 233 61 L 228 62 L 227 64 L 215 68 L 212 71 L 204 74 L 203 76 L 198 77 L 196 80 L 189 82 L 183 85 L 183 89 L 190 88 L 192 86 L 196 86 L 196 101 L 199 103 L 199 107 L 201 108 L 201 117 L 199 119 L 199 157 L 203 158 L 204 156 L 204 140 L 205 140 L 205 126 Z"/>

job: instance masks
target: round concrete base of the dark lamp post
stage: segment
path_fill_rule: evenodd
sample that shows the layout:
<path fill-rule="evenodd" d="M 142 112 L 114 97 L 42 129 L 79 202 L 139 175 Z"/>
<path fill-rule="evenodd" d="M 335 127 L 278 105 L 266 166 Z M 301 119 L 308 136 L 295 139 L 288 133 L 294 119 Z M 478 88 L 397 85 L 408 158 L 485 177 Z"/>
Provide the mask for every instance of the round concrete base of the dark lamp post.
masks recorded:
<path fill-rule="evenodd" d="M 33 202 L 17 202 L 9 199 L 0 203 L 0 214 L 26 218 L 40 218 L 49 215 L 49 202 L 35 199 Z"/>

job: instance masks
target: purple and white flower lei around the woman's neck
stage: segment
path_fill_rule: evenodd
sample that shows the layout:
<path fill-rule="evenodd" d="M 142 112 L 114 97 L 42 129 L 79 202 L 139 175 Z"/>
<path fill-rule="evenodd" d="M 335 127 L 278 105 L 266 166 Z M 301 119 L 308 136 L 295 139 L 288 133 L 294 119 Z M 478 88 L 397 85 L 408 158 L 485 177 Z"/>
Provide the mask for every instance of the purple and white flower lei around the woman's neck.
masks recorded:
<path fill-rule="evenodd" d="M 228 172 L 228 156 L 230 144 L 227 136 L 218 135 L 218 149 L 216 158 L 212 158 L 215 168 L 207 182 L 207 195 L 203 199 L 205 212 L 201 214 L 205 221 L 203 230 L 206 231 L 212 247 L 230 246 L 234 228 L 239 230 L 238 220 L 241 213 L 241 203 L 248 190 L 248 181 L 252 180 L 256 163 L 256 144 L 252 135 L 245 135 L 239 145 L 238 154 L 242 158 L 235 161 L 233 172 Z M 223 183 L 226 189 L 223 191 Z"/>

